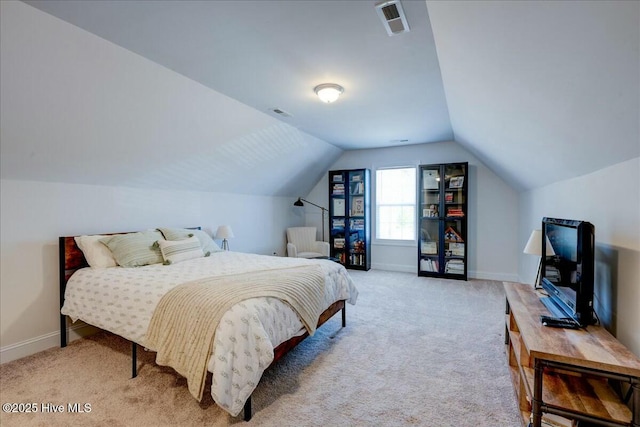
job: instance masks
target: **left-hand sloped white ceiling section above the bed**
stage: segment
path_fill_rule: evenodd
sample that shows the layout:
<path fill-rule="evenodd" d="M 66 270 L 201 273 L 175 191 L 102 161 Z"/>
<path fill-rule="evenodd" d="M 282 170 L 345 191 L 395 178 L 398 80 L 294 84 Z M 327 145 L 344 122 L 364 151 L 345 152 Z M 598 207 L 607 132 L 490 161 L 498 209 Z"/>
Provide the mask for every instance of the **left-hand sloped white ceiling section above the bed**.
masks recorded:
<path fill-rule="evenodd" d="M 342 152 L 24 3 L 0 7 L 3 179 L 296 196 Z"/>

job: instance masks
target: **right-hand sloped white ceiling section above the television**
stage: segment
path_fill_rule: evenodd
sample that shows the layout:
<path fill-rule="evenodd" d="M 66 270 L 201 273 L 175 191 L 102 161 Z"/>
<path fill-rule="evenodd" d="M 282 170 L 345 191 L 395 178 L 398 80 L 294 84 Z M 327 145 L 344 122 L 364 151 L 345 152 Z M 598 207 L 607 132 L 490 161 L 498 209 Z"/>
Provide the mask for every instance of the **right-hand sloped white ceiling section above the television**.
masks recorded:
<path fill-rule="evenodd" d="M 455 140 L 517 189 L 640 156 L 640 2 L 428 2 Z"/>

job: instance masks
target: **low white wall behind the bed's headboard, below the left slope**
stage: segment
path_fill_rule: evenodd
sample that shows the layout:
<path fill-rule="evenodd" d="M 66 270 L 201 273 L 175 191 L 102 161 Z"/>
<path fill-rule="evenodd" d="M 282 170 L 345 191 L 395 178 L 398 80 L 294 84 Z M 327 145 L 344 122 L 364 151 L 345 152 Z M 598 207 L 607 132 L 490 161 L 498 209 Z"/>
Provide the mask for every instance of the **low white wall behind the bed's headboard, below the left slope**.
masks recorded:
<path fill-rule="evenodd" d="M 2 180 L 0 199 L 2 362 L 59 342 L 59 236 L 226 224 L 231 250 L 284 255 L 304 222 L 286 197 Z"/>

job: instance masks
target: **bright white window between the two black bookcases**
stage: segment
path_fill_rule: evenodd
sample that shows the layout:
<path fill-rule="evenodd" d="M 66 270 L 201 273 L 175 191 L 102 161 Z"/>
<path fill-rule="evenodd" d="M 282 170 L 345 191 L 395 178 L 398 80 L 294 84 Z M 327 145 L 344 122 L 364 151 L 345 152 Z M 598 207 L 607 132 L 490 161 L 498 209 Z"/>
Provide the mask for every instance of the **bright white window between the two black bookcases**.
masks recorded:
<path fill-rule="evenodd" d="M 376 171 L 376 238 L 416 239 L 416 168 Z"/>

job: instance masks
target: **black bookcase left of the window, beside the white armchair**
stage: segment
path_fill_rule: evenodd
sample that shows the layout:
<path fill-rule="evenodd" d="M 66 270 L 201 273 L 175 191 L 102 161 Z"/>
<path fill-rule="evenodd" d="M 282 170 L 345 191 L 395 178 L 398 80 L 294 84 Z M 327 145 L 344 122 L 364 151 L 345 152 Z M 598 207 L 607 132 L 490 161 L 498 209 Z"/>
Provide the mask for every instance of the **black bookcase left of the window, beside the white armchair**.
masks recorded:
<path fill-rule="evenodd" d="M 371 268 L 369 169 L 329 172 L 331 257 L 347 268 Z"/>

